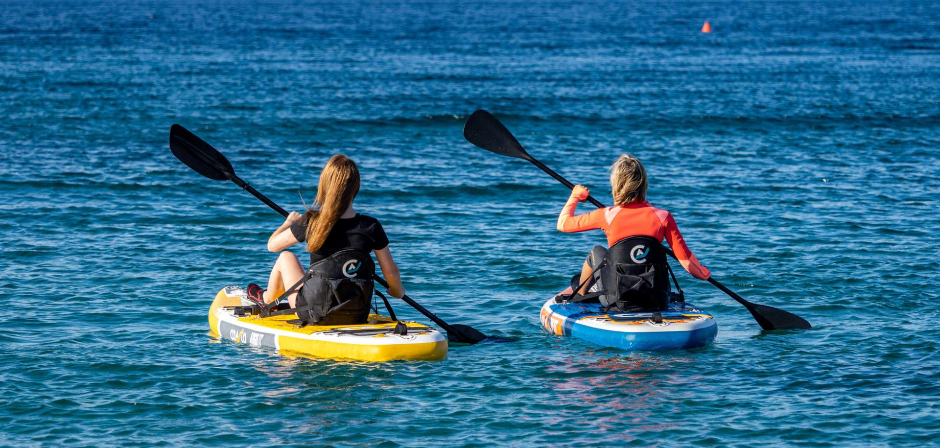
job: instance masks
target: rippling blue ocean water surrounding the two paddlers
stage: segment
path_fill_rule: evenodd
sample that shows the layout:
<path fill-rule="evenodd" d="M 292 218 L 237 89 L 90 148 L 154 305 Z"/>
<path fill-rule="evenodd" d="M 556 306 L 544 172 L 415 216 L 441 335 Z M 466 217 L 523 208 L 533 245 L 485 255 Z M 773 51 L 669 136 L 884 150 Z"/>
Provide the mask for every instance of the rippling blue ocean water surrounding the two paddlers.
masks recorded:
<path fill-rule="evenodd" d="M 935 444 L 938 88 L 934 2 L 5 1 L 0 444 Z M 478 108 L 606 203 L 635 154 L 716 279 L 814 328 L 761 332 L 682 273 L 708 348 L 542 332 L 603 234 L 557 232 L 563 186 L 463 140 Z M 281 218 L 178 162 L 173 123 L 287 209 L 348 154 L 409 294 L 510 342 L 217 341 L 212 296 L 267 278 Z"/>

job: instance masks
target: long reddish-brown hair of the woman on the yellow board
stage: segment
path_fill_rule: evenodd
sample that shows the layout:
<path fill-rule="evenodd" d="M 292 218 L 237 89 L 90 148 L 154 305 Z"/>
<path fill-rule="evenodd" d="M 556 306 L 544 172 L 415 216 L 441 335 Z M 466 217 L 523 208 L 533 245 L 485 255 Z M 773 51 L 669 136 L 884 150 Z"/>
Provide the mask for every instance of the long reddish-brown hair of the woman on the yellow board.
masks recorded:
<path fill-rule="evenodd" d="M 306 210 L 306 252 L 317 252 L 333 226 L 352 205 L 359 193 L 359 167 L 352 159 L 337 154 L 326 162 L 317 188 L 317 209 Z"/>

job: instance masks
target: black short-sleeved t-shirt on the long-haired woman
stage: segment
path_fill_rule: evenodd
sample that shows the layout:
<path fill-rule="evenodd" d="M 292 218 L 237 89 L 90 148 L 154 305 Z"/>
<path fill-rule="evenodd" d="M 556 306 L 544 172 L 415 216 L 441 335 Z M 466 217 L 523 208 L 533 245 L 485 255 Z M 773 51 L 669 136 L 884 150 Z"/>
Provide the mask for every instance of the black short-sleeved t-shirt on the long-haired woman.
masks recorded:
<path fill-rule="evenodd" d="M 298 241 L 306 239 L 306 224 L 309 216 L 305 214 L 301 219 L 290 224 L 290 233 Z M 352 218 L 340 218 L 333 230 L 326 236 L 323 245 L 317 252 L 310 253 L 310 263 L 316 263 L 327 256 L 336 254 L 343 249 L 361 249 L 366 252 L 378 251 L 388 245 L 388 237 L 379 220 L 371 216 L 356 213 Z"/>

